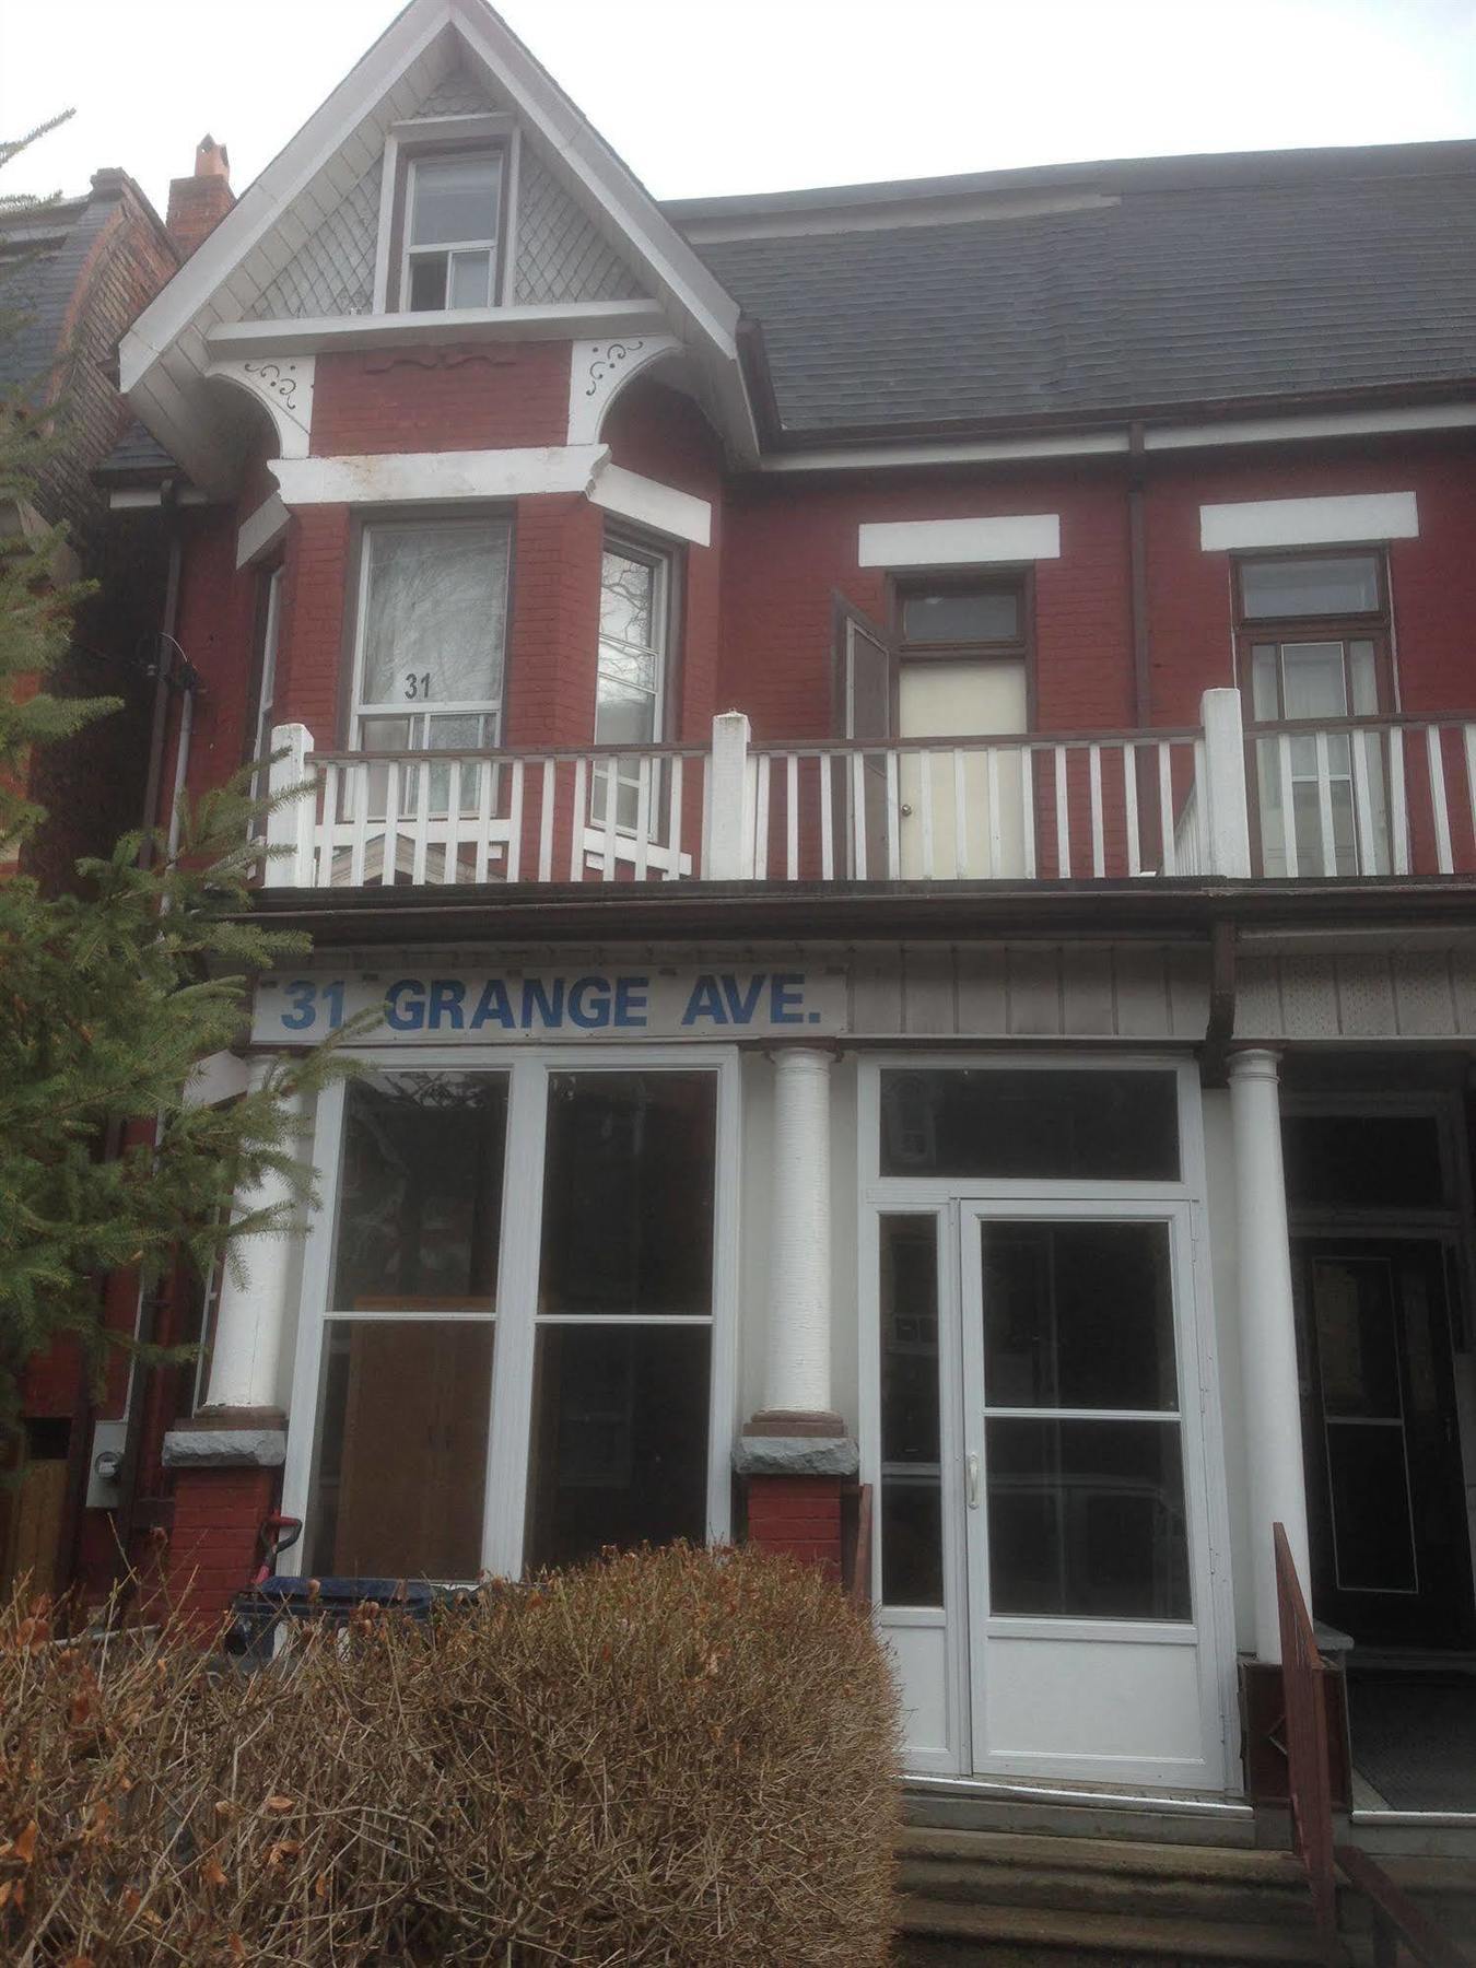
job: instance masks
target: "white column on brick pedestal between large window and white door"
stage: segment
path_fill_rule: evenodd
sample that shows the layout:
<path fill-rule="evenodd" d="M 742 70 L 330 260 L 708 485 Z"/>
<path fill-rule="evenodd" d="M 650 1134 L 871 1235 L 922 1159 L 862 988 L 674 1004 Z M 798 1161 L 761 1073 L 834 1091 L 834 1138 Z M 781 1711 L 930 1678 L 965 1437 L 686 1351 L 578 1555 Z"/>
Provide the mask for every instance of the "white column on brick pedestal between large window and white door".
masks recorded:
<path fill-rule="evenodd" d="M 830 1055 L 785 1047 L 773 1069 L 769 1179 L 771 1415 L 830 1413 Z"/>

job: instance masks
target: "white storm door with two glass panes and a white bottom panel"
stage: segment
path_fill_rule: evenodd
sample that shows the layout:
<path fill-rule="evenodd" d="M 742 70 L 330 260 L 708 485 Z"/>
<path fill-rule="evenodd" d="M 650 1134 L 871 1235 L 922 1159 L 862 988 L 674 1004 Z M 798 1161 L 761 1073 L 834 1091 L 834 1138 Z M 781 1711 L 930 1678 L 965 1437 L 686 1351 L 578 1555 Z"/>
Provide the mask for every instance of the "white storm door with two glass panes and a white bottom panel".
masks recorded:
<path fill-rule="evenodd" d="M 1189 1212 L 970 1202 L 960 1240 L 974 1767 L 1202 1783 Z"/>

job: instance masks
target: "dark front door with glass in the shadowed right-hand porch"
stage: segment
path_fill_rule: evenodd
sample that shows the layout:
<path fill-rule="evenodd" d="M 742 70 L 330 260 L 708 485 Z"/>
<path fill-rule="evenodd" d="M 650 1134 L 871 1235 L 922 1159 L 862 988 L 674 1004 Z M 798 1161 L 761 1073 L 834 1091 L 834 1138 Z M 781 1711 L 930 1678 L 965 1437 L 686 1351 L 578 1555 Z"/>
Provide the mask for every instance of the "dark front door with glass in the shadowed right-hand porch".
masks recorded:
<path fill-rule="evenodd" d="M 1317 1618 L 1362 1647 L 1466 1647 L 1445 1246 L 1301 1238 L 1295 1258 Z"/>

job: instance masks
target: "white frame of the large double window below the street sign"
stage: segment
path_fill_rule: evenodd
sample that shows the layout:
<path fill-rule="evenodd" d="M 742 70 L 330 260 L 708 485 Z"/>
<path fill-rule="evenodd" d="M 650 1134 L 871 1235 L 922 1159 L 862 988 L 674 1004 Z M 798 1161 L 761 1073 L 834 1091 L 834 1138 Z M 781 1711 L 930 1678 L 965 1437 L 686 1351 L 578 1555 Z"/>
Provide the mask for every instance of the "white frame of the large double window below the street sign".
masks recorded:
<path fill-rule="evenodd" d="M 523 1531 L 533 1435 L 533 1360 L 537 1330 L 545 1322 L 610 1322 L 598 1317 L 539 1317 L 537 1283 L 543 1232 L 543 1149 L 547 1094 L 553 1073 L 659 1073 L 708 1071 L 716 1078 L 716 1126 L 712 1163 L 712 1311 L 707 1319 L 669 1315 L 667 1319 L 626 1319 L 624 1324 L 708 1324 L 712 1332 L 708 1380 L 708 1466 L 707 1539 L 726 1543 L 732 1535 L 732 1441 L 738 1425 L 738 1261 L 740 1261 L 740 1171 L 742 1171 L 742 1082 L 738 1049 L 732 1045 L 545 1045 L 498 1051 L 486 1047 L 364 1047 L 352 1057 L 370 1071 L 392 1073 L 506 1073 L 508 1155 L 502 1183 L 502 1248 L 498 1254 L 498 1303 L 474 1317 L 496 1324 L 492 1356 L 492 1411 L 482 1519 L 482 1570 L 518 1578 L 523 1565 Z M 317 1102 L 311 1163 L 319 1171 L 323 1199 L 311 1212 L 303 1246 L 303 1279 L 293 1354 L 291 1417 L 281 1482 L 281 1509 L 309 1521 L 313 1460 L 321 1427 L 323 1346 L 333 1322 L 329 1293 L 337 1238 L 342 1124 L 346 1082 L 327 1088 Z M 352 1315 L 356 1319 L 376 1315 Z M 394 1317 L 394 1315 L 378 1315 Z M 443 1317 L 443 1315 L 435 1315 Z M 305 1557 L 301 1539 L 283 1553 L 277 1570 L 299 1576 Z"/>

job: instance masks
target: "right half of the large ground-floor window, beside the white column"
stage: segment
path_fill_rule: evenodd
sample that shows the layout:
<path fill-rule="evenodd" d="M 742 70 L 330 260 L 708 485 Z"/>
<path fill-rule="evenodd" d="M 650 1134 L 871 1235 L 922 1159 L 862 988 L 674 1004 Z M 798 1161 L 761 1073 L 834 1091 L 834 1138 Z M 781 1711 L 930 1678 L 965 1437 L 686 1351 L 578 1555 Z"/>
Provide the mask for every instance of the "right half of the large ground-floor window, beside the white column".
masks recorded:
<path fill-rule="evenodd" d="M 529 1570 L 701 1541 L 712 1356 L 712 1073 L 553 1073 Z"/>

